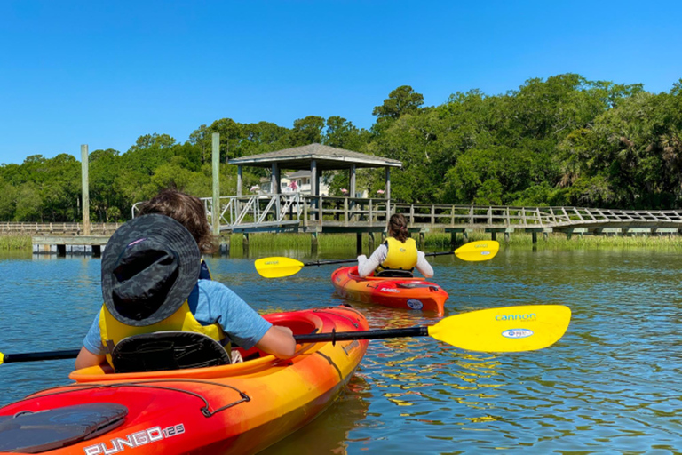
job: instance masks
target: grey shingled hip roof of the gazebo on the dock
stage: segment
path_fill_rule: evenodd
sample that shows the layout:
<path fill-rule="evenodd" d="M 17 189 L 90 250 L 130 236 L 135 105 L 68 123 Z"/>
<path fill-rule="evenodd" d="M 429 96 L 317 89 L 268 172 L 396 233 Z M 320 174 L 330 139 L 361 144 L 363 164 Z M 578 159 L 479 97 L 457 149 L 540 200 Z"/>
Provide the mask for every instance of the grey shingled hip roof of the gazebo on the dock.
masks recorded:
<path fill-rule="evenodd" d="M 315 160 L 317 168 L 320 170 L 350 169 L 353 164 L 355 164 L 356 168 L 402 167 L 402 163 L 398 160 L 353 152 L 344 148 L 323 146 L 321 144 L 309 144 L 307 146 L 285 148 L 260 155 L 242 156 L 241 158 L 228 160 L 227 163 L 256 167 L 270 167 L 276 163 L 281 169 L 309 170 L 313 160 Z"/>

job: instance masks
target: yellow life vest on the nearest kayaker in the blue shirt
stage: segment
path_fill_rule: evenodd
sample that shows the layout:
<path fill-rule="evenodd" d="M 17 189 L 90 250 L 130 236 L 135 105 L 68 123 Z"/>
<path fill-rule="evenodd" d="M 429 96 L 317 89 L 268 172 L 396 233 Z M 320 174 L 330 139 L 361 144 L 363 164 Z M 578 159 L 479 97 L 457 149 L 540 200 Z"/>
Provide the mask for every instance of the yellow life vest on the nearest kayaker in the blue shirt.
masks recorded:
<path fill-rule="evenodd" d="M 219 323 L 202 325 L 194 318 L 194 315 L 189 310 L 187 300 L 178 308 L 178 311 L 163 319 L 163 321 L 144 327 L 136 327 L 120 322 L 114 315 L 109 313 L 106 305 L 102 305 L 102 309 L 99 312 L 99 334 L 102 338 L 102 345 L 107 349 L 107 362 L 111 366 L 114 366 L 111 353 L 122 339 L 155 331 L 194 331 L 203 333 L 219 341 L 221 344 L 223 344 L 225 339 L 225 332 Z M 224 346 L 229 354 L 231 350 L 229 343 Z"/>

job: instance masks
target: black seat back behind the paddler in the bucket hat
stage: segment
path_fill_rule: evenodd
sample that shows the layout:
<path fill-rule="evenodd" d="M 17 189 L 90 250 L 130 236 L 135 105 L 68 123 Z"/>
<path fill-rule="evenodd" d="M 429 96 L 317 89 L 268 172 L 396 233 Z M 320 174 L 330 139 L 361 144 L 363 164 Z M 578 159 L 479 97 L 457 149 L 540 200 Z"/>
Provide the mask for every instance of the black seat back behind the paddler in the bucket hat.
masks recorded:
<path fill-rule="evenodd" d="M 192 331 L 134 335 L 122 339 L 111 357 L 117 373 L 182 370 L 230 363 L 230 355 L 218 341 Z"/>

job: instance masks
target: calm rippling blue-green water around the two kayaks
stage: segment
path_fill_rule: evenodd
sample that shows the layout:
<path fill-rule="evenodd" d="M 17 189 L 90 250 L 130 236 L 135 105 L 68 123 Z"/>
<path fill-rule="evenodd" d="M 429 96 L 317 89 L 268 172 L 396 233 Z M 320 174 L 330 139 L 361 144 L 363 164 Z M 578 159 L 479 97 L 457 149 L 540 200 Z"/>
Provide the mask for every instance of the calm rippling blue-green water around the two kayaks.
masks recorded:
<path fill-rule="evenodd" d="M 254 251 L 208 259 L 214 278 L 262 312 L 337 305 L 332 267 L 261 278 Z M 353 251 L 321 259 L 352 258 Z M 448 314 L 565 304 L 567 334 L 541 351 L 469 353 L 432 339 L 372 341 L 339 401 L 266 452 L 682 452 L 682 260 L 675 251 L 503 249 L 488 262 L 432 260 Z M 81 346 L 100 305 L 99 259 L 0 258 L 0 351 Z M 373 327 L 432 324 L 356 304 Z M 0 403 L 63 384 L 72 361 L 0 366 Z"/>

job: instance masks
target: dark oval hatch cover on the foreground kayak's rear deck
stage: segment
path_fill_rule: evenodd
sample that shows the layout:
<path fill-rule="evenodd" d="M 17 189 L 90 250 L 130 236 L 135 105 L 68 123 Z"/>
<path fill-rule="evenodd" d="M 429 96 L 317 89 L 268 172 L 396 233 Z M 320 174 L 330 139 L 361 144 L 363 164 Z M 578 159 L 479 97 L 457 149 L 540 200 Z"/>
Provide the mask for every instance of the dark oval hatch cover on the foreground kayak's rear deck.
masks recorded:
<path fill-rule="evenodd" d="M 0 417 L 0 451 L 41 453 L 103 435 L 123 424 L 128 408 L 87 403 Z M 72 451 L 72 453 L 83 451 Z"/>

